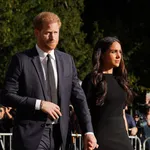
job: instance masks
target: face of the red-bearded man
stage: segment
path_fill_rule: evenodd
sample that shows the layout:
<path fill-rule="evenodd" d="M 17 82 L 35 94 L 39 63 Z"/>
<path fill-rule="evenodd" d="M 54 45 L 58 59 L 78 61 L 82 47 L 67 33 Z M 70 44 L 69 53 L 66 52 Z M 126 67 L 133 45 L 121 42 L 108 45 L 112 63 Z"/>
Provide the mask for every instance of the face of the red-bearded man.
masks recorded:
<path fill-rule="evenodd" d="M 38 46 L 45 52 L 56 48 L 59 41 L 58 23 L 44 23 L 41 30 L 35 29 Z"/>

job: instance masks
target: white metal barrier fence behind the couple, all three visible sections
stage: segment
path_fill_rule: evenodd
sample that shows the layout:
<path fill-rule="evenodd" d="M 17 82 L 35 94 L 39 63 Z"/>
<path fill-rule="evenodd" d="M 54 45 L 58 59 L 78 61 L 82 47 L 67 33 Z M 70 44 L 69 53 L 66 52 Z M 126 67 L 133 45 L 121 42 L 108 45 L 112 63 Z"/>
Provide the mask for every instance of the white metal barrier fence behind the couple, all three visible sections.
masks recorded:
<path fill-rule="evenodd" d="M 71 134 L 71 146 L 69 150 L 82 150 L 82 135 L 81 134 Z M 134 150 L 150 150 L 150 137 L 146 138 L 141 142 L 138 136 L 129 136 L 131 144 Z M 0 148 L 2 150 L 12 150 L 12 133 L 0 133 Z"/>

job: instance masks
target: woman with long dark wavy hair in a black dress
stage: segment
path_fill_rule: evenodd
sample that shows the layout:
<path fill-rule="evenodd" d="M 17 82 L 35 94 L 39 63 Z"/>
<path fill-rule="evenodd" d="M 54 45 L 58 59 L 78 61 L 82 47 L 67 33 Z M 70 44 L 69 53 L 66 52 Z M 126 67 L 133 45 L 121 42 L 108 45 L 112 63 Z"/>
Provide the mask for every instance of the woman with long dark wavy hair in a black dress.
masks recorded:
<path fill-rule="evenodd" d="M 124 106 L 134 93 L 129 87 L 123 52 L 117 37 L 100 39 L 92 56 L 92 71 L 82 82 L 99 150 L 132 150 L 125 128 Z"/>

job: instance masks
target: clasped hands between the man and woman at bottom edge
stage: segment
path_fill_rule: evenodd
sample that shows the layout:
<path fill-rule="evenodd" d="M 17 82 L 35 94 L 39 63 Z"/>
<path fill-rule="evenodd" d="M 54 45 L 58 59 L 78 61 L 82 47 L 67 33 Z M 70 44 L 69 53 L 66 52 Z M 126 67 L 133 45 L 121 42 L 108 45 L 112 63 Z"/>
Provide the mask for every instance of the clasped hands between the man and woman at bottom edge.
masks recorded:
<path fill-rule="evenodd" d="M 98 148 L 97 140 L 93 134 L 84 135 L 84 150 L 94 150 Z"/>

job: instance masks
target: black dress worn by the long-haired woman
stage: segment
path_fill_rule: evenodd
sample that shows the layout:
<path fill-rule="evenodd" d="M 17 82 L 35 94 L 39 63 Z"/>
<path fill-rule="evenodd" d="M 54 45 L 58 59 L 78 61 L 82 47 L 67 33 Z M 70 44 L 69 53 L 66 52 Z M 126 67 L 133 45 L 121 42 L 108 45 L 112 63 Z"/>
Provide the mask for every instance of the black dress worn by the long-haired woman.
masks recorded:
<path fill-rule="evenodd" d="M 82 83 L 99 150 L 133 150 L 123 119 L 126 93 L 112 74 L 104 74 L 104 77 L 107 82 L 107 95 L 102 106 L 96 106 L 95 89 L 90 75 Z"/>

